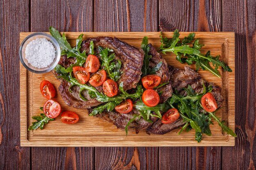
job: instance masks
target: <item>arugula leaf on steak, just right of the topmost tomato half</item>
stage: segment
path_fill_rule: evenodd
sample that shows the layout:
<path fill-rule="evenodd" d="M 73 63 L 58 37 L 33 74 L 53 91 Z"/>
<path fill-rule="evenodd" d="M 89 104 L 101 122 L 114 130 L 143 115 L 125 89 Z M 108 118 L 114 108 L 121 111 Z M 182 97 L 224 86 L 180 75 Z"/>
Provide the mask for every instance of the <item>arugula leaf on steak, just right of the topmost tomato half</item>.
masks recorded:
<path fill-rule="evenodd" d="M 103 49 L 99 47 L 99 55 L 101 56 L 101 65 L 103 69 L 108 73 L 110 79 L 114 80 L 115 82 L 121 77 L 123 72 L 120 71 L 121 68 L 121 61 L 117 60 L 117 62 L 113 61 L 115 59 L 115 53 L 108 55 L 109 51 L 113 51 L 111 49 Z"/>

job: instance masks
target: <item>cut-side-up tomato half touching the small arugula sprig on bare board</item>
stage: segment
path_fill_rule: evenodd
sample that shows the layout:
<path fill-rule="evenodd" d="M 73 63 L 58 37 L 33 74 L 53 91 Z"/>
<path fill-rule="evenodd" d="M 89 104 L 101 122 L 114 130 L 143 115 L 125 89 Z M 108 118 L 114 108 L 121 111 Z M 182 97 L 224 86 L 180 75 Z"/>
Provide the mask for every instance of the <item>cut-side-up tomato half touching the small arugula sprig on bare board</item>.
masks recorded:
<path fill-rule="evenodd" d="M 49 99 L 43 106 L 43 112 L 45 113 L 45 116 L 49 118 L 55 118 L 61 113 L 61 105 L 58 104 L 58 102 Z"/>

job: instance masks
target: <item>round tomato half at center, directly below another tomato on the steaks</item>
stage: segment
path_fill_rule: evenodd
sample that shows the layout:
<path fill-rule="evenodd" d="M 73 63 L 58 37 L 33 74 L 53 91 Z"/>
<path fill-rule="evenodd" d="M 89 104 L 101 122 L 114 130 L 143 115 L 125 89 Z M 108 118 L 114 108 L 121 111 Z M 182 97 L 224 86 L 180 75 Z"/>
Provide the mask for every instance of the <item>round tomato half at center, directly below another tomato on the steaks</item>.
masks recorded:
<path fill-rule="evenodd" d="M 142 94 L 142 101 L 149 107 L 156 106 L 159 103 L 159 95 L 153 89 L 147 89 Z"/>

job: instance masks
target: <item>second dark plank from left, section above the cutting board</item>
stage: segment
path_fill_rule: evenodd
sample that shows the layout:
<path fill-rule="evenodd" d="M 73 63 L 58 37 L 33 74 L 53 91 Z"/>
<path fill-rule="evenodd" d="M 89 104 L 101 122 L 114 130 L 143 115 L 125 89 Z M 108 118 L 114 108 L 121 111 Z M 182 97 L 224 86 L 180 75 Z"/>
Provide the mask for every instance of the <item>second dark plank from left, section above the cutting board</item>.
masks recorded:
<path fill-rule="evenodd" d="M 93 0 L 31 0 L 31 31 L 93 31 Z"/>

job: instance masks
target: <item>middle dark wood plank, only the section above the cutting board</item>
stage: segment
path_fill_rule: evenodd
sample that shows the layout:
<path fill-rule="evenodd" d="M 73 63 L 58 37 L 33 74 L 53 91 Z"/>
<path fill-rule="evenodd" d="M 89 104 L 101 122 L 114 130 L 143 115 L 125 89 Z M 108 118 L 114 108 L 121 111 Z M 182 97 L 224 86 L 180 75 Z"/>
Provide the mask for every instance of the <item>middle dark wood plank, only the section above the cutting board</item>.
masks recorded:
<path fill-rule="evenodd" d="M 157 31 L 157 0 L 95 0 L 95 31 Z"/>

